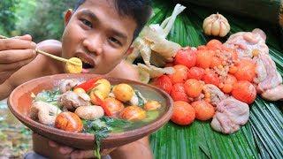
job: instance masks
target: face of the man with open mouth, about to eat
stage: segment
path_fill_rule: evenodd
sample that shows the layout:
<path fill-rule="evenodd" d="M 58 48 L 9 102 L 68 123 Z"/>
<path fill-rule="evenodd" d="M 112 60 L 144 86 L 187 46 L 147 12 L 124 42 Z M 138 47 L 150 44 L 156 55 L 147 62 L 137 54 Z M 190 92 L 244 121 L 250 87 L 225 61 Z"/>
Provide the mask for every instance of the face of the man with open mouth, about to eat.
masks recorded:
<path fill-rule="evenodd" d="M 137 27 L 134 19 L 119 15 L 113 0 L 87 0 L 71 18 L 65 16 L 65 22 L 63 57 L 79 57 L 83 72 L 99 74 L 110 72 L 126 57 Z"/>

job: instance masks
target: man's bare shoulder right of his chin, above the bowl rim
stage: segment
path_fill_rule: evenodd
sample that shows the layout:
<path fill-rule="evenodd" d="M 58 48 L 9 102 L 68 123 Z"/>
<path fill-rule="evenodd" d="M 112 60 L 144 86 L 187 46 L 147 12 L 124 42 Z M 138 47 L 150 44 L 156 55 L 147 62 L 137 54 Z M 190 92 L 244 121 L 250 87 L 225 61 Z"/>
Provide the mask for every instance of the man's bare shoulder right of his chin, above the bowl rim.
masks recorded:
<path fill-rule="evenodd" d="M 118 64 L 107 75 L 121 79 L 139 80 L 139 72 L 134 68 L 132 64 L 127 63 L 125 60 Z"/>

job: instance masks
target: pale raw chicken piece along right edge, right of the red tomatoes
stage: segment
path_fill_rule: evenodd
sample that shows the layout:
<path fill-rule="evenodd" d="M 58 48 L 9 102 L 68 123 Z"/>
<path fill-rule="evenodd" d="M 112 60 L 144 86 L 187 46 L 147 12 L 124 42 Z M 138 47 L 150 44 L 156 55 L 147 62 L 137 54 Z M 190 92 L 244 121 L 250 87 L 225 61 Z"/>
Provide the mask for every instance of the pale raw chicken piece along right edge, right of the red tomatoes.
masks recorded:
<path fill-rule="evenodd" d="M 279 72 L 277 72 L 276 65 L 269 55 L 259 54 L 256 58 L 257 61 L 263 64 L 260 67 L 264 66 L 264 69 L 256 69 L 257 79 L 260 77 L 258 86 L 256 87 L 258 93 L 263 93 L 265 90 L 277 87 L 282 83 L 282 77 Z M 263 70 L 265 70 L 266 75 Z"/>

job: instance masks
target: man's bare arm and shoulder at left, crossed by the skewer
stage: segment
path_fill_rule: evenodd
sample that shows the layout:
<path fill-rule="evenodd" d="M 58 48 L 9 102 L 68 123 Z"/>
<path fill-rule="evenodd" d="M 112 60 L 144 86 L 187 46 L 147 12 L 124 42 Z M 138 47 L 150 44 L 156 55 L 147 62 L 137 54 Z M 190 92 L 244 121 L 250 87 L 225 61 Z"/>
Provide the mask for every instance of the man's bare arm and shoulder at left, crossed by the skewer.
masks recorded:
<path fill-rule="evenodd" d="M 58 41 L 48 40 L 40 42 L 37 44 L 37 48 L 53 55 L 60 56 L 61 54 L 61 42 Z M 28 80 L 57 73 L 57 65 L 57 61 L 49 57 L 37 55 L 32 62 L 21 67 L 17 72 L 14 72 L 9 79 L 6 79 L 0 85 L 0 100 L 7 98 L 15 87 Z"/>

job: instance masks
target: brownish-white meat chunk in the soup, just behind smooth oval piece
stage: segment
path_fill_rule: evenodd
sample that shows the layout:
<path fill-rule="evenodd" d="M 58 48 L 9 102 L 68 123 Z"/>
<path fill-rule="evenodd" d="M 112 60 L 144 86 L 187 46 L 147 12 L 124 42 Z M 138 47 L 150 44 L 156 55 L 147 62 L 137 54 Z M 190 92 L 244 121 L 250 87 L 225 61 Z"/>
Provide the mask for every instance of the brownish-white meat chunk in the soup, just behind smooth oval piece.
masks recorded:
<path fill-rule="evenodd" d="M 72 91 L 65 92 L 65 94 L 60 95 L 58 98 L 58 103 L 64 109 L 74 110 L 80 106 L 90 105 L 90 98 L 88 94 L 85 93 L 74 93 Z"/>

